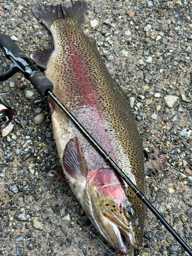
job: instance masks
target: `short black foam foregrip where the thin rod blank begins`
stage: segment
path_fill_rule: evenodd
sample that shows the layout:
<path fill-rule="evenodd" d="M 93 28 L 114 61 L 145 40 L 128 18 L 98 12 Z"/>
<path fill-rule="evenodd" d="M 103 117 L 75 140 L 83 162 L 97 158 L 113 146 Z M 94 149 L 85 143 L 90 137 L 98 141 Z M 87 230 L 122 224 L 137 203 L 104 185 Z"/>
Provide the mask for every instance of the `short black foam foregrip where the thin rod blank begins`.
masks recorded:
<path fill-rule="evenodd" d="M 53 91 L 53 83 L 42 72 L 36 72 L 29 78 L 30 82 L 42 96 L 47 95 L 47 90 Z"/>

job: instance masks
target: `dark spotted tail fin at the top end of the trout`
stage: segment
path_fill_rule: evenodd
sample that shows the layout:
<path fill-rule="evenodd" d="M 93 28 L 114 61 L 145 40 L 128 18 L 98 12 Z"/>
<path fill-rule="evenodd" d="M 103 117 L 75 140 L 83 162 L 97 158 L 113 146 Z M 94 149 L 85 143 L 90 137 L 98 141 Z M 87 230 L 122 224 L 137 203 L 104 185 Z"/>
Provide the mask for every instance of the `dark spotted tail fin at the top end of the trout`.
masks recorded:
<path fill-rule="evenodd" d="M 78 0 L 56 6 L 40 5 L 33 7 L 33 13 L 50 30 L 51 25 L 57 19 L 71 18 L 81 23 L 86 7 L 86 2 Z"/>

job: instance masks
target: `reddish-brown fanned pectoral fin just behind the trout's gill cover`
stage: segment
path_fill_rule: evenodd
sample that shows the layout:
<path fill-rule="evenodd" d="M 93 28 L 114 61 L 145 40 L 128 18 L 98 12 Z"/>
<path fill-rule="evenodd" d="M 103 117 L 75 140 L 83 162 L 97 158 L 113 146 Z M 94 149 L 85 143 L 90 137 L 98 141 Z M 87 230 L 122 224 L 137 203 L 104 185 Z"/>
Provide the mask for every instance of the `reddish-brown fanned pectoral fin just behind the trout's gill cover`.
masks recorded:
<path fill-rule="evenodd" d="M 73 178 L 78 176 L 86 177 L 86 170 L 84 167 L 84 161 L 77 137 L 70 139 L 63 152 L 63 166 L 66 172 Z"/>

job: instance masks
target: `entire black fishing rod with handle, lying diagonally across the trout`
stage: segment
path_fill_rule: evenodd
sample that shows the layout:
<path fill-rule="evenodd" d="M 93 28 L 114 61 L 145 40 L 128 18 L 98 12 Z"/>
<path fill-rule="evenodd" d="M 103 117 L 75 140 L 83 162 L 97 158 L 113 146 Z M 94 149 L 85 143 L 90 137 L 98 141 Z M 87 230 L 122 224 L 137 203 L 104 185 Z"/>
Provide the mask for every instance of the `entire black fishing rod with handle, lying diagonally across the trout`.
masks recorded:
<path fill-rule="evenodd" d="M 126 176 L 119 168 L 119 166 L 113 161 L 113 159 L 103 150 L 103 148 L 97 143 L 97 141 L 89 134 L 89 132 L 84 129 L 81 123 L 70 113 L 65 105 L 54 95 L 53 93 L 53 83 L 40 72 L 31 62 L 31 60 L 26 56 L 26 54 L 20 50 L 20 48 L 15 44 L 15 42 L 7 35 L 0 34 L 0 48 L 3 50 L 6 58 L 12 61 L 13 66 L 0 75 L 0 81 L 7 80 L 16 72 L 21 72 L 24 76 L 31 82 L 33 87 L 42 96 L 49 96 L 59 108 L 72 120 L 77 129 L 81 134 L 95 147 L 95 149 L 100 153 L 100 155 L 108 161 L 114 169 L 118 172 L 121 178 L 126 182 L 136 193 L 137 197 L 153 212 L 157 219 L 166 227 L 166 229 L 173 235 L 173 237 L 178 241 L 178 243 L 192 256 L 192 250 L 183 241 L 179 234 L 168 224 L 168 222 L 159 214 L 157 209 L 145 198 L 144 194 L 135 186 L 135 184 Z M 1 113 L 1 112 L 0 112 Z"/>

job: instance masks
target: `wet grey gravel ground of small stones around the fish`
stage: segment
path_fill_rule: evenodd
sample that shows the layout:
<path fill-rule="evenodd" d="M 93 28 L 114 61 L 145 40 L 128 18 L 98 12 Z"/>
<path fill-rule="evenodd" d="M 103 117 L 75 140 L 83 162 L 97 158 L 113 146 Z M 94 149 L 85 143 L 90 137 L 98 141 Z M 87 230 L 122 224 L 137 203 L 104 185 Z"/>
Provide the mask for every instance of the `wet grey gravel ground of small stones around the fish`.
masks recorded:
<path fill-rule="evenodd" d="M 95 37 L 115 82 L 131 97 L 145 155 L 146 196 L 192 247 L 192 1 L 88 2 L 83 30 Z M 28 55 L 51 47 L 32 6 L 0 0 L 0 33 Z M 0 53 L 1 73 L 10 62 Z M 0 82 L 15 111 L 0 138 L 1 255 L 117 255 L 56 173 L 47 99 L 17 73 Z M 146 210 L 142 246 L 130 255 L 188 255 Z"/>

